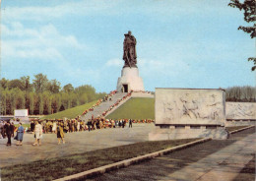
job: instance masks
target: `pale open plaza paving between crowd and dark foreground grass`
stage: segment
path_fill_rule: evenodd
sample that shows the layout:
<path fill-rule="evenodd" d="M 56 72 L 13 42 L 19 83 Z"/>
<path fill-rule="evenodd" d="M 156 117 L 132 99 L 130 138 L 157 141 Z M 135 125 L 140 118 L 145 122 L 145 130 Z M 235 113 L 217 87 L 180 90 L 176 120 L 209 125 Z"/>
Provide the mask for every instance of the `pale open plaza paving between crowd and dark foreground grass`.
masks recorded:
<path fill-rule="evenodd" d="M 112 128 L 65 134 L 65 145 L 58 145 L 56 134 L 43 134 L 41 146 L 32 146 L 32 134 L 25 134 L 23 146 L 6 147 L 7 139 L 0 139 L 0 167 L 26 163 L 84 151 L 95 151 L 121 145 L 148 141 L 148 134 L 155 128 L 152 124 L 133 124 L 133 128 Z"/>

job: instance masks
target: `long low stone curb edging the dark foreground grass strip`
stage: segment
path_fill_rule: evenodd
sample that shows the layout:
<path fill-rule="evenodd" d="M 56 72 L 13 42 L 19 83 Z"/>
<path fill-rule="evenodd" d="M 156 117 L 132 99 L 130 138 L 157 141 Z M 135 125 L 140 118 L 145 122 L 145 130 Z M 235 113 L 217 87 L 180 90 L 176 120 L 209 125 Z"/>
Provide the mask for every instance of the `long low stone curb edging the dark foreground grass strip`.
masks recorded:
<path fill-rule="evenodd" d="M 77 173 L 77 174 L 74 174 L 74 175 L 59 178 L 59 179 L 56 179 L 55 181 L 86 179 L 88 177 L 96 176 L 96 175 L 99 175 L 99 174 L 102 174 L 102 173 L 105 173 L 105 172 L 108 172 L 108 171 L 111 171 L 111 170 L 114 170 L 114 169 L 126 167 L 126 166 L 129 166 L 131 164 L 134 164 L 134 163 L 137 163 L 137 162 L 140 162 L 140 161 L 143 161 L 143 160 L 151 159 L 151 158 L 154 158 L 154 157 L 157 157 L 157 156 L 160 156 L 160 155 L 172 152 L 172 151 L 179 151 L 181 149 L 185 149 L 185 148 L 188 148 L 188 147 L 191 147 L 191 146 L 194 146 L 194 145 L 197 145 L 197 144 L 201 144 L 201 143 L 204 143 L 204 142 L 207 142 L 207 141 L 210 141 L 210 140 L 212 140 L 212 139 L 211 138 L 200 139 L 198 141 L 190 142 L 190 143 L 180 145 L 180 146 L 177 146 L 177 147 L 173 147 L 173 148 L 170 148 L 170 149 L 165 149 L 165 150 L 162 150 L 162 151 L 156 151 L 156 152 L 148 153 L 148 154 L 145 154 L 145 155 L 140 155 L 140 156 L 137 156 L 137 157 L 133 157 L 133 158 L 125 159 L 125 160 L 122 160 L 122 161 L 118 161 L 118 162 L 115 162 L 115 163 L 112 163 L 112 164 L 100 166 L 100 167 L 95 168 L 95 169 L 91 169 L 91 170 L 87 170 L 87 171 Z"/>

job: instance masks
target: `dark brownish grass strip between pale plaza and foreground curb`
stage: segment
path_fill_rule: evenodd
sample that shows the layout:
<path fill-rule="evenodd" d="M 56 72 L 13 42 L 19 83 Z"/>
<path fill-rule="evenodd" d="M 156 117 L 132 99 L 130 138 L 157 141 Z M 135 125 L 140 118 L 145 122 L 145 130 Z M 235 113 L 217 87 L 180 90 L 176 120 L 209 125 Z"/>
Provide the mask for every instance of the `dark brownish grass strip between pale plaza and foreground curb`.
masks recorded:
<path fill-rule="evenodd" d="M 124 159 L 172 148 L 195 140 L 198 139 L 142 142 L 2 167 L 1 179 L 2 181 L 11 181 L 52 180 L 62 178 L 64 176 L 83 172 Z"/>

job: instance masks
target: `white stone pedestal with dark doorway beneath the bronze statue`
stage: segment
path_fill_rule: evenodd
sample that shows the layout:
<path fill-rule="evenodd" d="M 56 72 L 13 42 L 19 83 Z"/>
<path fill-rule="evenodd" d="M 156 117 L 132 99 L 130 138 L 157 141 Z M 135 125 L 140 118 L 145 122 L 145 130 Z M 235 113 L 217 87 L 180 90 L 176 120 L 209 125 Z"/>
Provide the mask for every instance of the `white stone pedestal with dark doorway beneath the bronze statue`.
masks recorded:
<path fill-rule="evenodd" d="M 136 67 L 125 67 L 122 69 L 121 77 L 117 81 L 117 91 L 145 91 L 143 80 L 139 76 L 139 69 Z"/>

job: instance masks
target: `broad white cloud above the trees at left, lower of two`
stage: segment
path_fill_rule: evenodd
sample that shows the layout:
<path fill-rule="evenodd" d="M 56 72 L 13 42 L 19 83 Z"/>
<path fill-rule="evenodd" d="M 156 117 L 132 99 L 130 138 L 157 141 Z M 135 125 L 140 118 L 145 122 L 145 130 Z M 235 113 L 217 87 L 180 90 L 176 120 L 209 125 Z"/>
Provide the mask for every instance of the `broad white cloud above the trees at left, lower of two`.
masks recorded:
<path fill-rule="evenodd" d="M 10 58 L 61 58 L 64 49 L 85 49 L 74 35 L 63 35 L 49 24 L 39 29 L 25 28 L 21 23 L 2 25 L 3 57 Z"/>

